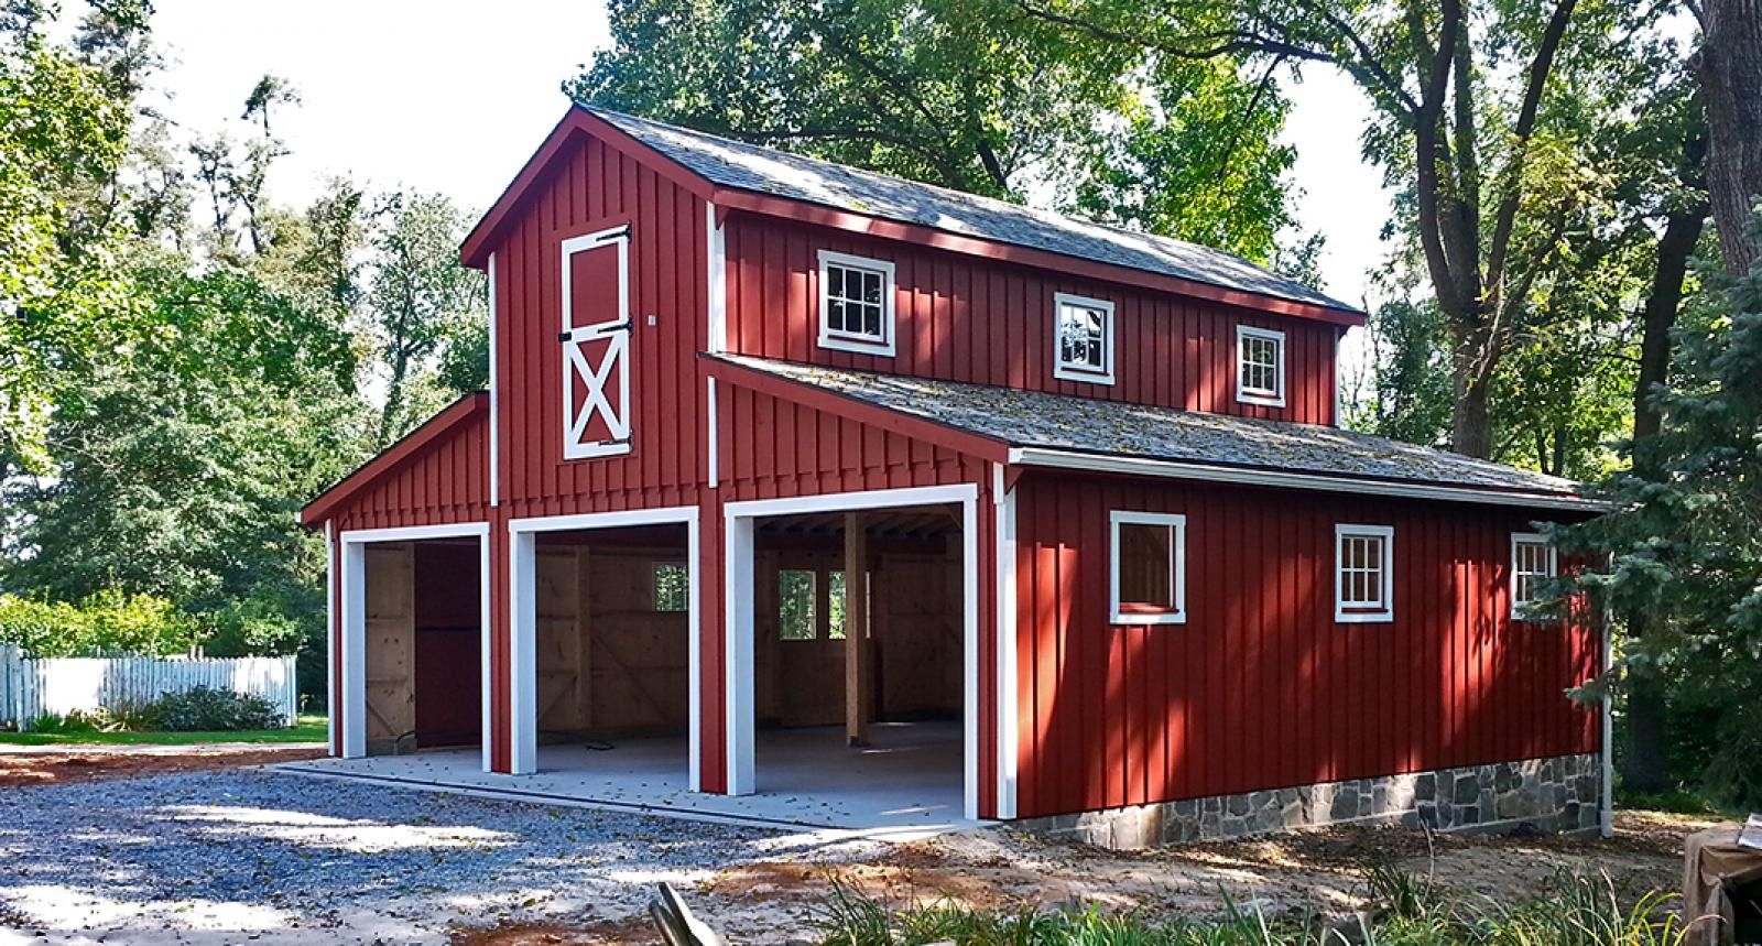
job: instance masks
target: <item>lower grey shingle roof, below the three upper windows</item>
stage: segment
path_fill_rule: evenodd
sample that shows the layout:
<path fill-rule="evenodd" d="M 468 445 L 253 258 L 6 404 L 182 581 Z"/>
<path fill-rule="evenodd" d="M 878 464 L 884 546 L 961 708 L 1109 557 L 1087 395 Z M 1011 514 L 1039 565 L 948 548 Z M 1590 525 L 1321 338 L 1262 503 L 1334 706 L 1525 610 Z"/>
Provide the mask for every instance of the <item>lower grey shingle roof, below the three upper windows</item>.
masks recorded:
<path fill-rule="evenodd" d="M 1256 421 L 737 354 L 715 358 L 967 430 L 1011 447 L 1545 493 L 1561 499 L 1579 495 L 1579 484 L 1570 479 L 1332 426 Z"/>

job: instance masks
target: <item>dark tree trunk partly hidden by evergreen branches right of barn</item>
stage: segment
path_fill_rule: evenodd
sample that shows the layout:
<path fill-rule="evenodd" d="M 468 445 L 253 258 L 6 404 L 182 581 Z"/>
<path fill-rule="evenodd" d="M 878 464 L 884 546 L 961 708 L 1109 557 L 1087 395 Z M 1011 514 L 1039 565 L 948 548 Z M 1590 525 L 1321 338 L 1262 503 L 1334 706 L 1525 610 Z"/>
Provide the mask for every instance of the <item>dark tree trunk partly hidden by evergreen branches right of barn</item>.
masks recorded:
<path fill-rule="evenodd" d="M 1658 268 L 1653 271 L 1651 294 L 1646 298 L 1646 326 L 1640 336 L 1640 375 L 1633 388 L 1633 472 L 1656 476 L 1653 440 L 1663 425 L 1663 410 L 1653 402 L 1653 391 L 1670 379 L 1670 328 L 1683 303 L 1683 277 L 1688 259 L 1700 241 L 1707 206 L 1692 206 L 1670 213 L 1663 236 L 1658 240 Z M 1628 638 L 1644 645 L 1655 624 L 1644 608 L 1623 615 Z M 1646 668 L 1628 675 L 1626 756 L 1621 779 L 1628 791 L 1658 793 L 1670 787 L 1669 687 L 1656 669 Z"/>

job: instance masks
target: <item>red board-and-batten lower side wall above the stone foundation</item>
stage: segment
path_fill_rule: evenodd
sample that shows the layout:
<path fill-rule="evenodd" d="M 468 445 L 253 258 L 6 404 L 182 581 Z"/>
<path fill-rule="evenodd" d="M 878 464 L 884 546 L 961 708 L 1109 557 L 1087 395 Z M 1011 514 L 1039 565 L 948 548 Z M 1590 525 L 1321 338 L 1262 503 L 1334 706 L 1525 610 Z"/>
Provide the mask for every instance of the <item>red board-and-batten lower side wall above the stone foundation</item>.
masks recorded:
<path fill-rule="evenodd" d="M 1510 622 L 1503 507 L 1027 474 L 1018 814 L 1596 752 L 1591 622 Z M 1186 514 L 1186 624 L 1108 624 L 1108 513 Z M 1392 525 L 1394 620 L 1336 624 L 1334 525 Z"/>

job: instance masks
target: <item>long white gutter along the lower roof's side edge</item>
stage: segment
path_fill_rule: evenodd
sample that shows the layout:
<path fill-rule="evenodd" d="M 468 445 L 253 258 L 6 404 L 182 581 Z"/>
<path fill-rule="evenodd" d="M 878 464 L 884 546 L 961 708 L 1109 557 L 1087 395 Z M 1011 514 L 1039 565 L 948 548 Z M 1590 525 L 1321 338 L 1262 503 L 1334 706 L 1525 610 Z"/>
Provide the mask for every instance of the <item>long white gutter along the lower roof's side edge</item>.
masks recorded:
<path fill-rule="evenodd" d="M 1045 447 L 1010 447 L 1010 463 L 1022 467 L 1052 467 L 1061 470 L 1108 472 L 1126 476 L 1156 476 L 1163 479 L 1193 479 L 1202 483 L 1230 483 L 1240 486 L 1277 486 L 1283 490 L 1320 490 L 1329 493 L 1360 493 L 1399 499 L 1425 499 L 1443 502 L 1477 502 L 1485 506 L 1519 506 L 1524 509 L 1565 509 L 1573 513 L 1607 513 L 1610 504 L 1595 499 L 1559 493 L 1519 493 L 1503 490 L 1477 490 L 1471 486 L 1434 486 L 1427 483 L 1397 483 L 1388 479 L 1351 479 L 1325 474 L 1286 470 L 1249 470 L 1214 463 L 1182 463 L 1173 460 L 1145 460 L 1138 456 L 1108 456 Z"/>

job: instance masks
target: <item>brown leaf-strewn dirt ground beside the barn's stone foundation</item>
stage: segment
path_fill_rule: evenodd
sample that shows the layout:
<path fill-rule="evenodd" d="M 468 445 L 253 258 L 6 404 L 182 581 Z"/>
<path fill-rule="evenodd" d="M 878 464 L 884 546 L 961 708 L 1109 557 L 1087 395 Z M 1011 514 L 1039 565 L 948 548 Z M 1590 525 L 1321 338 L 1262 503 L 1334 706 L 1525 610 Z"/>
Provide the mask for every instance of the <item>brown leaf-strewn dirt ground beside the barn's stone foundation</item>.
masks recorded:
<path fill-rule="evenodd" d="M 1108 853 L 992 830 L 895 846 L 862 861 L 758 863 L 684 893 L 707 923 L 747 942 L 807 935 L 809 913 L 833 879 L 893 905 L 1096 904 L 1151 916 L 1219 916 L 1228 895 L 1239 907 L 1267 916 L 1309 909 L 1350 914 L 1364 904 L 1366 867 L 1394 861 L 1464 900 L 1533 898 L 1549 877 L 1570 870 L 1605 874 L 1618 897 L 1632 902 L 1649 890 L 1674 890 L 1681 881 L 1683 839 L 1711 824 L 1699 817 L 1621 812 L 1609 840 L 1323 828 L 1147 853 Z M 657 942 L 657 937 L 633 916 L 592 928 L 476 930 L 462 934 L 458 942 L 537 946 Z"/>

